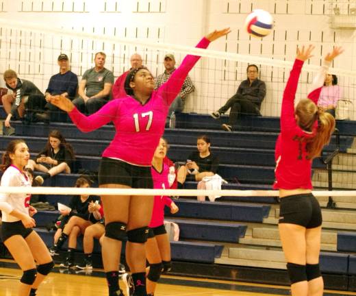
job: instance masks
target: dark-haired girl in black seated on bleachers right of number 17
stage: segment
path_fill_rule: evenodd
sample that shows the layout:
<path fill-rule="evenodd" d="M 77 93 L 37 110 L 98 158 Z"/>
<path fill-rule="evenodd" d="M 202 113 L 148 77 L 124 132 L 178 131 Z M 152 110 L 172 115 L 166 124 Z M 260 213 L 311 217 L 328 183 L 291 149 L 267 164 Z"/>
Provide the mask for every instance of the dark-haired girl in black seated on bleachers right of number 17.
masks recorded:
<path fill-rule="evenodd" d="M 207 136 L 199 136 L 196 141 L 198 151 L 190 153 L 186 165 L 178 169 L 178 188 L 183 188 L 184 182 L 199 182 L 203 177 L 216 174 L 219 167 L 218 157 L 210 151 L 210 139 Z"/>

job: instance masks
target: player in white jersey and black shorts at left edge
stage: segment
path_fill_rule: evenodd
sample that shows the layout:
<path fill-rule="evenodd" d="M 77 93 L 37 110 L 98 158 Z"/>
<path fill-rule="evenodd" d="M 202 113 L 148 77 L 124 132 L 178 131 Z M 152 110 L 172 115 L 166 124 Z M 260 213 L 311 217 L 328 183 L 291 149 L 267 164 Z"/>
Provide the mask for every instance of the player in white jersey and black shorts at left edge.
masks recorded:
<path fill-rule="evenodd" d="M 31 182 L 24 168 L 29 161 L 29 149 L 23 140 L 12 140 L 3 154 L 1 186 L 29 187 Z M 23 271 L 19 296 L 35 296 L 40 283 L 53 268 L 53 260 L 40 236 L 32 230 L 32 216 L 37 210 L 29 205 L 31 195 L 3 193 L 0 210 L 3 214 L 1 240 Z M 36 268 L 36 263 L 38 267 Z"/>

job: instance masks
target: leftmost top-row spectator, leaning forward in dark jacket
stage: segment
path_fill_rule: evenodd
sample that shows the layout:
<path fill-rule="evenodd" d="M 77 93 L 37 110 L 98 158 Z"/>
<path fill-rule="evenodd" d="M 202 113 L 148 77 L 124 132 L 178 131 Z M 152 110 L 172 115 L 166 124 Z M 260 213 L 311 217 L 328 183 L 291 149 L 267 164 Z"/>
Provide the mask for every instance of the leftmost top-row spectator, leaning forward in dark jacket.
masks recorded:
<path fill-rule="evenodd" d="M 5 127 L 10 127 L 10 120 L 13 116 L 23 118 L 25 115 L 25 104 L 27 101 L 43 100 L 43 94 L 34 83 L 20 79 L 14 70 L 6 70 L 3 73 L 3 79 L 5 80 L 6 87 L 12 90 L 12 93 L 8 93 L 1 97 L 3 102 L 3 108 L 8 116 L 5 119 Z"/>

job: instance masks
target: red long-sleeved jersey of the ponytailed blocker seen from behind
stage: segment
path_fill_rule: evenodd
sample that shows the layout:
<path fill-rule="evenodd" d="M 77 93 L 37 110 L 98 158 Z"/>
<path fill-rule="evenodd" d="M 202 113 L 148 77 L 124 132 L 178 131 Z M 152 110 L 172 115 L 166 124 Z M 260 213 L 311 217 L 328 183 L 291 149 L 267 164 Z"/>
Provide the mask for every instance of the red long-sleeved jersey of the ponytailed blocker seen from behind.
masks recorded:
<path fill-rule="evenodd" d="M 294 114 L 294 98 L 298 86 L 303 61 L 295 60 L 290 77 L 283 93 L 281 110 L 281 134 L 275 147 L 275 184 L 273 188 L 312 189 L 312 160 L 307 158 L 306 141 L 316 134 L 318 123 L 314 123 L 312 132 L 306 132 L 298 126 Z M 329 63 L 325 62 L 312 84 L 308 98 L 317 103 Z"/>

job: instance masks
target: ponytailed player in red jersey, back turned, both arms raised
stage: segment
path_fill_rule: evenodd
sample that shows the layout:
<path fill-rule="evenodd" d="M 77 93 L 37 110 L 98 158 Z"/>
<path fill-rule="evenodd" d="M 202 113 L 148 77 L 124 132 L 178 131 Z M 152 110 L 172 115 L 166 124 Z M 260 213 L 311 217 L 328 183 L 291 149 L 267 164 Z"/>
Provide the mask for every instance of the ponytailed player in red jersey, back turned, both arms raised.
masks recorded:
<path fill-rule="evenodd" d="M 329 143 L 335 119 L 316 103 L 329 65 L 342 49 L 335 47 L 327 54 L 308 99 L 301 99 L 294 109 L 299 75 L 313 49 L 309 46 L 297 51 L 283 93 L 281 134 L 275 151 L 274 188 L 279 189 L 281 198 L 278 226 L 293 296 L 319 296 L 324 287 L 319 268 L 322 214 L 312 195 L 312 160 Z"/>

